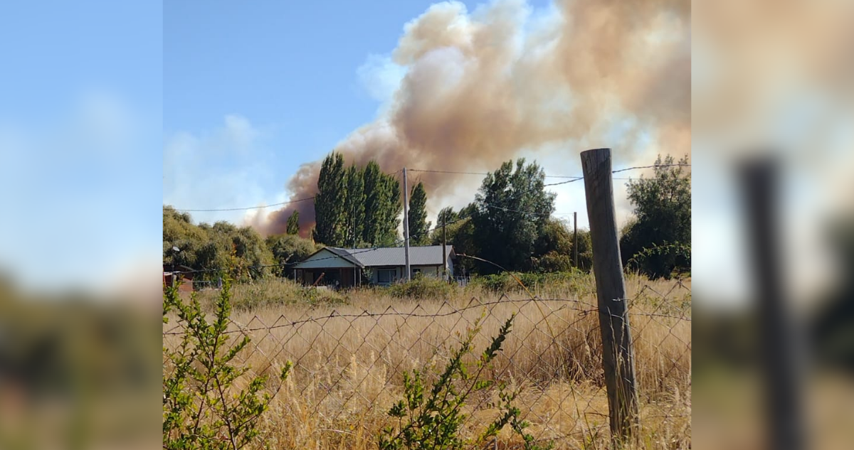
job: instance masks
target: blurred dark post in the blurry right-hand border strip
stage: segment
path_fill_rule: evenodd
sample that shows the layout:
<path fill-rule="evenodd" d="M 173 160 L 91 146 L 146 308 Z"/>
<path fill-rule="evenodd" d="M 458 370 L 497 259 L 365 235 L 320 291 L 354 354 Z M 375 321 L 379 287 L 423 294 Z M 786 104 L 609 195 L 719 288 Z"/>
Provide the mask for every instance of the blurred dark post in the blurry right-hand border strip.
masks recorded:
<path fill-rule="evenodd" d="M 784 289 L 778 211 L 778 167 L 773 160 L 755 160 L 740 168 L 753 274 L 757 280 L 760 349 L 765 375 L 765 406 L 769 417 L 769 448 L 806 448 L 802 411 L 803 341 Z"/>

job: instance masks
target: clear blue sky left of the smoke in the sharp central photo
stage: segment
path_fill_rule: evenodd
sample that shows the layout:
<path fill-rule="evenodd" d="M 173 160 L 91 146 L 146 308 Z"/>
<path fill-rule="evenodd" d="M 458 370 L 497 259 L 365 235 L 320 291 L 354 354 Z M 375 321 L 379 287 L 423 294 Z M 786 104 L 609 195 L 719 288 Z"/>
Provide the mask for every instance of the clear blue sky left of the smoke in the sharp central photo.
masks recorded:
<path fill-rule="evenodd" d="M 394 49 L 432 3 L 167 2 L 165 131 L 205 130 L 239 113 L 281 127 L 292 152 L 330 146 L 376 113 L 359 67 Z"/>

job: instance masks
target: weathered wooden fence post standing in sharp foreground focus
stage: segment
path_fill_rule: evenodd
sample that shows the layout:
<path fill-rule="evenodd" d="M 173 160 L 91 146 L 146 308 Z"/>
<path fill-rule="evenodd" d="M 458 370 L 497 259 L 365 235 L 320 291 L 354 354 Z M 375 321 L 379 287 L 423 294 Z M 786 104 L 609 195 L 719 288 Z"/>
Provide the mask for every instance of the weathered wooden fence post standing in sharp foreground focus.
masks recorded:
<path fill-rule="evenodd" d="M 614 213 L 611 149 L 588 150 L 582 152 L 581 156 L 590 240 L 593 244 L 593 271 L 599 301 L 602 366 L 608 392 L 611 441 L 614 447 L 621 447 L 629 437 L 637 436 L 635 429 L 640 422 L 635 355 L 629 331 L 626 286 Z"/>

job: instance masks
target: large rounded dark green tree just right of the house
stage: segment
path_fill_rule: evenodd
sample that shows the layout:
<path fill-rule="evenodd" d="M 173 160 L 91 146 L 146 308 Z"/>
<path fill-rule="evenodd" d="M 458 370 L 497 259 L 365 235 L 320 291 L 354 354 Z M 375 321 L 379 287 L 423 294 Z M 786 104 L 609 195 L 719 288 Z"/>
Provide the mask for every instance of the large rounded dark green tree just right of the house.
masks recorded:
<path fill-rule="evenodd" d="M 554 211 L 554 193 L 543 186 L 545 172 L 525 159 L 501 164 L 483 179 L 471 217 L 480 256 L 507 270 L 531 268 L 534 245 Z M 496 245 L 500 243 L 500 245 Z M 498 269 L 482 264 L 482 273 Z"/>

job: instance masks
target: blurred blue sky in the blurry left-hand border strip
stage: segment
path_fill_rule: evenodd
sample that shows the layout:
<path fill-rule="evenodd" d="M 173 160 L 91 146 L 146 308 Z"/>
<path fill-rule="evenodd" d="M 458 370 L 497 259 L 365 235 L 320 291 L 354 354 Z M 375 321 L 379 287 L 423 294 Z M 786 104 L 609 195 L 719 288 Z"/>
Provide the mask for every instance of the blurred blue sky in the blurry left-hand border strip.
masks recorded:
<path fill-rule="evenodd" d="M 23 286 L 144 279 L 160 258 L 162 17 L 159 2 L 0 7 L 0 272 Z"/>

